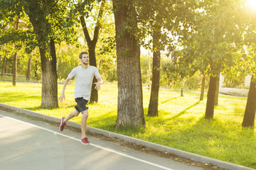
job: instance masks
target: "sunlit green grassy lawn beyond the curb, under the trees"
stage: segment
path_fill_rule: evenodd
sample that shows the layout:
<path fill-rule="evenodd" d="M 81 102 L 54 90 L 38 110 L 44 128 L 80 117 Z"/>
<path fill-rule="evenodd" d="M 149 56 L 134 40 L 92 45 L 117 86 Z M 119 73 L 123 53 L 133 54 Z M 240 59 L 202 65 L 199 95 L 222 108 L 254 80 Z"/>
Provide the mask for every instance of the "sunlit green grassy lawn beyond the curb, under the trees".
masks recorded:
<path fill-rule="evenodd" d="M 59 95 L 62 87 L 58 86 Z M 67 86 L 60 108 L 48 109 L 40 108 L 41 84 L 12 86 L 11 82 L 0 81 L 0 102 L 61 118 L 74 110 L 73 89 L 73 85 Z M 89 105 L 88 125 L 256 169 L 256 132 L 241 127 L 247 98 L 220 96 L 214 120 L 205 120 L 206 96 L 199 102 L 199 95 L 186 91 L 180 97 L 180 91 L 161 89 L 159 117 L 151 118 L 146 116 L 150 94 L 144 89 L 146 128 L 114 129 L 117 85 L 103 84 L 99 102 Z M 80 123 L 80 116 L 73 121 Z"/>

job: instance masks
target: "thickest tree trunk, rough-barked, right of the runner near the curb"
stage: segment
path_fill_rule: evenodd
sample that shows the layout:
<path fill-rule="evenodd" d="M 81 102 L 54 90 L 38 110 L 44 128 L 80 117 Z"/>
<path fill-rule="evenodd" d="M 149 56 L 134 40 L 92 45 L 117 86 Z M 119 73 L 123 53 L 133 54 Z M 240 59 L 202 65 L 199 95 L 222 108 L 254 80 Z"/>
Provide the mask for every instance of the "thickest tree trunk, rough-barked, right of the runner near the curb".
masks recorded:
<path fill-rule="evenodd" d="M 142 73 L 140 69 L 140 46 L 135 35 L 125 28 L 127 22 L 135 21 L 132 2 L 113 0 L 114 23 L 117 42 L 118 102 L 115 127 L 145 125 Z M 136 25 L 132 24 L 132 26 Z M 136 28 L 134 28 L 136 29 Z"/>

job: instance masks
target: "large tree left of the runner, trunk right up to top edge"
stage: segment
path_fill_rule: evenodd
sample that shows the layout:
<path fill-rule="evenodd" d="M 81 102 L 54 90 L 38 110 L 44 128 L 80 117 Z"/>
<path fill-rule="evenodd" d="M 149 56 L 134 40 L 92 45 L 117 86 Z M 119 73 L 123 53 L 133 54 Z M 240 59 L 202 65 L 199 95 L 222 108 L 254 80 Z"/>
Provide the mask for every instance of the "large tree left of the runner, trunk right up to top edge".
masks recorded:
<path fill-rule="evenodd" d="M 52 26 L 48 16 L 53 12 L 50 2 L 24 1 L 25 12 L 33 26 L 33 33 L 36 34 L 42 67 L 42 100 L 41 107 L 58 107 L 58 86 L 55 42 L 50 38 Z M 49 50 L 48 50 L 49 49 Z"/>

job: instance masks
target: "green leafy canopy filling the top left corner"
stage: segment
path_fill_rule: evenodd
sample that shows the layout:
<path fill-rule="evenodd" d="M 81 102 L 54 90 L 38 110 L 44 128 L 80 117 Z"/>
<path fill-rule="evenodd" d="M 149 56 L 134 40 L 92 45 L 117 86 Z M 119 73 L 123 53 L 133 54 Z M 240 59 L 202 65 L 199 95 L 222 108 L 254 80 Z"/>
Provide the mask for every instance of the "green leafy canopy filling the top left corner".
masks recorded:
<path fill-rule="evenodd" d="M 1 1 L 0 44 L 15 43 L 16 50 L 26 47 L 26 53 L 32 52 L 36 46 L 46 49 L 50 39 L 55 43 L 62 41 L 75 44 L 76 18 L 72 13 L 74 1 Z M 14 19 L 20 18 L 20 29 L 10 29 Z M 78 26 L 76 26 L 78 27 Z"/>

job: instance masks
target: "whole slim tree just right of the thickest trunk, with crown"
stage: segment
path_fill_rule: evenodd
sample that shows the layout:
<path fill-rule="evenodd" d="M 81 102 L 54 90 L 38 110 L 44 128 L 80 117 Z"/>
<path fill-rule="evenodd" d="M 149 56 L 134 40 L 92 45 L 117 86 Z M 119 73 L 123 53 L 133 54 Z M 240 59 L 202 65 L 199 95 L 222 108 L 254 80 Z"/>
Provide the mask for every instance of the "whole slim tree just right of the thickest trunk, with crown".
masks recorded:
<path fill-rule="evenodd" d="M 143 44 L 153 52 L 148 115 L 157 116 L 161 50 L 165 50 L 166 46 L 171 46 L 174 49 L 173 45 L 171 45 L 174 42 L 172 34 L 176 32 L 176 26 L 184 21 L 184 18 L 180 16 L 184 15 L 187 10 L 185 10 L 185 5 L 181 1 L 149 0 L 141 1 L 141 3 L 137 11 L 139 11 L 139 19 L 142 25 L 142 37 L 145 37 L 145 35 L 151 37 L 149 40 L 144 41 Z"/>

